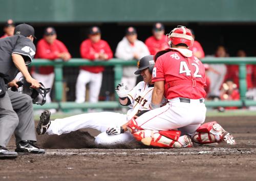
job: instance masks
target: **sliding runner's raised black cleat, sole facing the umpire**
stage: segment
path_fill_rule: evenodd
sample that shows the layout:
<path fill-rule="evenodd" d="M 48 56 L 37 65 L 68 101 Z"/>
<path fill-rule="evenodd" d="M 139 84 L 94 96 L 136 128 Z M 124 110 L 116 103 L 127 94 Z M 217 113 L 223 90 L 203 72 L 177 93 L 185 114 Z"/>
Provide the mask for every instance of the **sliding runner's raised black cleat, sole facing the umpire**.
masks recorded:
<path fill-rule="evenodd" d="M 40 121 L 36 126 L 36 132 L 38 135 L 46 133 L 47 129 L 51 124 L 50 116 L 51 112 L 49 110 L 45 110 L 44 112 L 42 112 L 40 116 Z"/>

